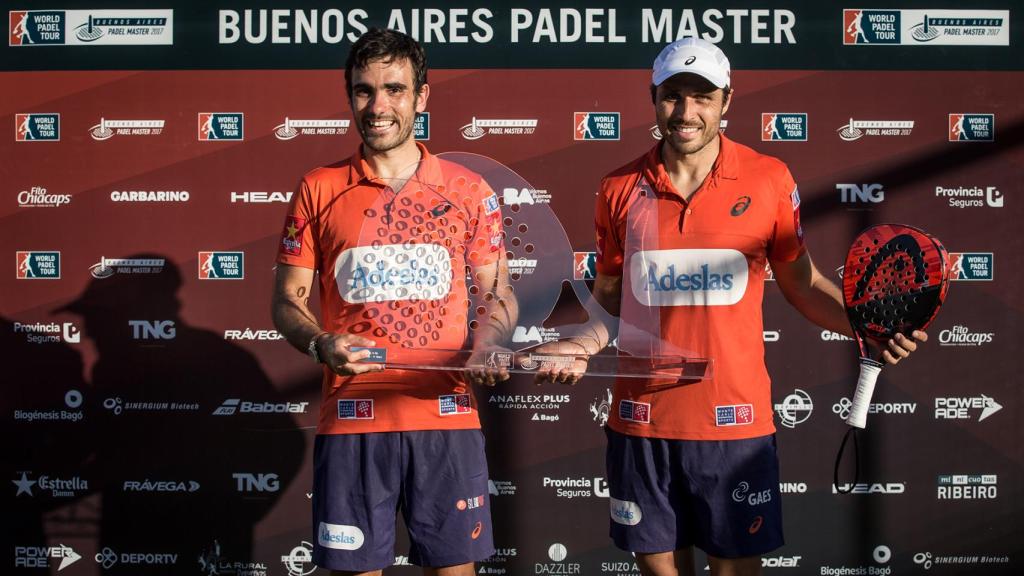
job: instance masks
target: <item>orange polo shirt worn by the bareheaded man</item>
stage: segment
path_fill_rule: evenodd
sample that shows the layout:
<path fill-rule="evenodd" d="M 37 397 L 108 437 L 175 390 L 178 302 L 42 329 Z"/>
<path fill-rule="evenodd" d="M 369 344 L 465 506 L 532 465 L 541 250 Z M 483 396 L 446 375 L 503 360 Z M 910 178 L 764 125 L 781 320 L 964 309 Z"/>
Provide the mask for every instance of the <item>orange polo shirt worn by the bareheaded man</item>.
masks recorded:
<path fill-rule="evenodd" d="M 466 271 L 504 250 L 498 198 L 476 173 L 432 156 L 394 190 L 354 156 L 303 176 L 278 262 L 319 273 L 322 326 L 358 334 L 394 361 L 465 347 Z M 427 351 L 427 352 L 425 352 Z M 324 370 L 319 434 L 480 426 L 471 389 L 454 373 Z"/>

